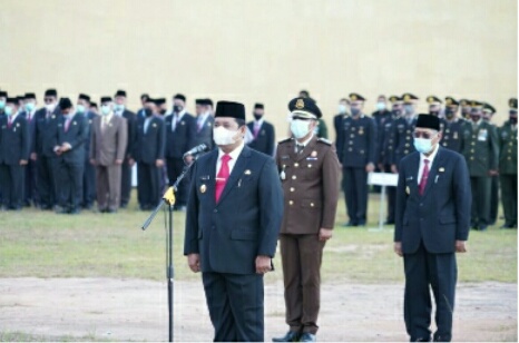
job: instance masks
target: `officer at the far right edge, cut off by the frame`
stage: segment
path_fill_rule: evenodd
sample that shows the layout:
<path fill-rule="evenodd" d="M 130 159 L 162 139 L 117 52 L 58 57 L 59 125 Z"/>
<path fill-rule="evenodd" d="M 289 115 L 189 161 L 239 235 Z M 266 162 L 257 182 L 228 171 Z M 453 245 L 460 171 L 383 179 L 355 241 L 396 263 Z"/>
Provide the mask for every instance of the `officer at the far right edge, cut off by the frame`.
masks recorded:
<path fill-rule="evenodd" d="M 517 98 L 508 105 L 509 118 L 499 129 L 499 180 L 505 212 L 501 228 L 517 227 Z"/>

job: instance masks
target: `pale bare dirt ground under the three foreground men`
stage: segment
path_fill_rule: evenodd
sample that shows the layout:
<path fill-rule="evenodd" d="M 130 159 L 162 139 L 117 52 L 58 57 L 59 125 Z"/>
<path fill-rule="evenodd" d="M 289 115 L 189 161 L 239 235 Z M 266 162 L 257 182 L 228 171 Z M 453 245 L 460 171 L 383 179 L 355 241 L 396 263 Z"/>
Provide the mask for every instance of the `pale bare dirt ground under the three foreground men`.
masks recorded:
<path fill-rule="evenodd" d="M 284 334 L 281 282 L 266 285 L 265 340 Z M 402 285 L 325 284 L 319 341 L 407 341 Z M 462 284 L 456 341 L 517 341 L 517 285 Z M 1 278 L 0 331 L 47 337 L 167 341 L 166 283 Z M 175 340 L 212 341 L 200 282 L 175 282 Z"/>

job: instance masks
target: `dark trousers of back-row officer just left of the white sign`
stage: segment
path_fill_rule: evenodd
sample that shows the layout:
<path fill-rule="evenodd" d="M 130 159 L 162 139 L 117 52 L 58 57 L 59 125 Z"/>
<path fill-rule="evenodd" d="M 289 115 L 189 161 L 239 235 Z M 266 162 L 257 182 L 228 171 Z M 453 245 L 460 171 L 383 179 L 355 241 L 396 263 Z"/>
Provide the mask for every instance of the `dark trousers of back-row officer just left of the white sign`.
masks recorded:
<path fill-rule="evenodd" d="M 344 167 L 344 197 L 353 224 L 365 223 L 368 210 L 368 173 L 364 167 Z"/>

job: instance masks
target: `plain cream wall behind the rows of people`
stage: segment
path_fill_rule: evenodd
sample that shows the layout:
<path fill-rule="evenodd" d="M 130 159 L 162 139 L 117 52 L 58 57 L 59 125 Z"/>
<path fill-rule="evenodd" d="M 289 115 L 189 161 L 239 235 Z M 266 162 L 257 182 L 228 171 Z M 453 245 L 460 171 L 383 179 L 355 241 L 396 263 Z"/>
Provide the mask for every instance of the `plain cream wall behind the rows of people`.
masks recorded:
<path fill-rule="evenodd" d="M 368 112 L 379 94 L 487 100 L 501 122 L 517 42 L 516 0 L 1 0 L 0 88 L 263 101 L 280 138 L 302 88 L 329 126 L 351 91 Z"/>

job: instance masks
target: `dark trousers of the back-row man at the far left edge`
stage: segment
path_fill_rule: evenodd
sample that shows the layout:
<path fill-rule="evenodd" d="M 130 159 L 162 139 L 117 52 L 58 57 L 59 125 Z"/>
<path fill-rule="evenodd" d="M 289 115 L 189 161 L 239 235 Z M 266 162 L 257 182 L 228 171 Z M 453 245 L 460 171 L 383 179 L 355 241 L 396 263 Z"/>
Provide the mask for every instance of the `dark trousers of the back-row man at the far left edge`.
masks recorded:
<path fill-rule="evenodd" d="M 0 164 L 0 186 L 3 206 L 19 209 L 23 199 L 23 180 L 26 167 Z"/>

